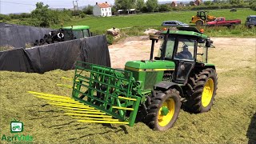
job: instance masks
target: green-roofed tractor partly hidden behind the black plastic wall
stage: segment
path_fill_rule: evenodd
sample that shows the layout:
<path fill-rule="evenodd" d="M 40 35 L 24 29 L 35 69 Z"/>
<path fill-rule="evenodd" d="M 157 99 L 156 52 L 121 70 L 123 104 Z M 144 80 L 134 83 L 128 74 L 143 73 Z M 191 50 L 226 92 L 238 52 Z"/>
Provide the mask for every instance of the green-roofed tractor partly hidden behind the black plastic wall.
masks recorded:
<path fill-rule="evenodd" d="M 89 26 L 66 26 L 59 30 L 52 30 L 49 34 L 45 34 L 44 38 L 34 42 L 34 46 L 42 46 L 50 43 L 70 41 L 73 39 L 90 37 Z"/>

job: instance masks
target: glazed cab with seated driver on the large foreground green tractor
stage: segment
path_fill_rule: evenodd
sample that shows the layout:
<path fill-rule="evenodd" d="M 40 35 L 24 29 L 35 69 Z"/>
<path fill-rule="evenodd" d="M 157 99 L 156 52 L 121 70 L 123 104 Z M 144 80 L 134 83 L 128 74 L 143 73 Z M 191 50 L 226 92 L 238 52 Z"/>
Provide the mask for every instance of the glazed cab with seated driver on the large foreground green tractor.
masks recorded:
<path fill-rule="evenodd" d="M 162 44 L 156 60 L 172 61 L 175 64 L 173 82 L 185 84 L 195 66 L 207 63 L 210 38 L 194 27 L 163 32 Z"/>

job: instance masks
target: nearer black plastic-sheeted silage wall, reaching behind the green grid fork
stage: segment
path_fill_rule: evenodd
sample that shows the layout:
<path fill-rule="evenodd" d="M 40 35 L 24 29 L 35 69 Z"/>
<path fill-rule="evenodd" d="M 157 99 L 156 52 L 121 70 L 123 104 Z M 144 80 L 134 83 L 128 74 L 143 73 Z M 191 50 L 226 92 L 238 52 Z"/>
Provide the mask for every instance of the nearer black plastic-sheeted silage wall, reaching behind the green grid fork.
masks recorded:
<path fill-rule="evenodd" d="M 76 61 L 110 65 L 105 35 L 0 52 L 0 70 L 44 73 L 72 70 Z"/>

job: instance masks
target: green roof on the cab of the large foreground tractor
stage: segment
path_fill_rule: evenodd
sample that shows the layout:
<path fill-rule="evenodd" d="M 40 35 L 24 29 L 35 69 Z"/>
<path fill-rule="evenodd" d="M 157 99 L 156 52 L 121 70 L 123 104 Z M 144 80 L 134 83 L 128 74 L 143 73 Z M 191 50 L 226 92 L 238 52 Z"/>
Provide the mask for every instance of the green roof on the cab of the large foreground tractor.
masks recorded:
<path fill-rule="evenodd" d="M 167 30 L 162 31 L 162 34 L 166 34 Z M 191 35 L 201 38 L 208 38 L 207 35 L 199 32 L 195 27 L 178 27 L 178 30 L 170 30 L 169 34 L 181 34 L 181 35 Z"/>

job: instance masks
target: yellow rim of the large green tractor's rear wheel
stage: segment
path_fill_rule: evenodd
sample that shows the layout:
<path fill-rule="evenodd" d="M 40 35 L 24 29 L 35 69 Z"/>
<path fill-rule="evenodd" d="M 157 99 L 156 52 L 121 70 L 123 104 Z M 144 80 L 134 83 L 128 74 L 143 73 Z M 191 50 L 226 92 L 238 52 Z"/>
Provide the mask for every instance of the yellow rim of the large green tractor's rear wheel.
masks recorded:
<path fill-rule="evenodd" d="M 214 80 L 209 78 L 202 90 L 202 106 L 207 107 L 210 104 L 214 94 Z"/>

